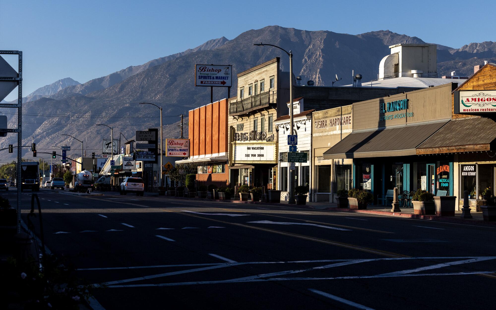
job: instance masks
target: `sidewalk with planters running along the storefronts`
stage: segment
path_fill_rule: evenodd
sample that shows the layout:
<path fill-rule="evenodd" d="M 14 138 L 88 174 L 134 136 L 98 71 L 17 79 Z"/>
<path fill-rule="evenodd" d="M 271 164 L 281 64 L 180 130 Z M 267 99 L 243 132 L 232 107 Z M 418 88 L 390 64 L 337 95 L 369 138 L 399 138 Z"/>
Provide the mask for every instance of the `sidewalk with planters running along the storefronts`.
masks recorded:
<path fill-rule="evenodd" d="M 329 202 L 307 202 L 306 205 L 289 205 L 287 201 L 281 201 L 281 203 L 277 204 L 277 203 L 262 203 L 262 202 L 239 201 L 239 200 L 218 200 L 218 199 L 185 198 L 185 197 L 171 197 L 171 196 L 164 196 L 164 197 L 175 198 L 175 199 L 186 199 L 186 200 L 213 201 L 219 203 L 251 204 L 251 205 L 279 206 L 279 207 L 290 206 L 290 207 L 304 208 L 304 209 L 363 213 L 363 214 L 373 214 L 373 215 L 382 215 L 382 216 L 395 216 L 395 217 L 422 219 L 422 220 L 430 220 L 437 222 L 447 222 L 447 223 L 496 228 L 496 222 L 484 221 L 482 217 L 482 212 L 475 212 L 475 211 L 472 211 L 470 213 L 473 218 L 460 218 L 462 211 L 455 211 L 455 216 L 418 215 L 418 214 L 414 214 L 413 207 L 400 208 L 401 209 L 400 212 L 391 212 L 391 207 L 386 207 L 386 206 L 367 206 L 367 209 L 365 210 L 355 210 L 350 208 L 338 208 L 337 204 L 329 203 Z"/>

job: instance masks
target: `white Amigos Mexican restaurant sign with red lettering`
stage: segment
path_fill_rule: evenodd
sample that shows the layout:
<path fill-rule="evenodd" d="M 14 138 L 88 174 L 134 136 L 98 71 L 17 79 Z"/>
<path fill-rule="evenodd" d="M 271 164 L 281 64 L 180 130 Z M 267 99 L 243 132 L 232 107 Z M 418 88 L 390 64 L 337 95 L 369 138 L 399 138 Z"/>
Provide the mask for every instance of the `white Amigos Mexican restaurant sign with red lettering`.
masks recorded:
<path fill-rule="evenodd" d="M 496 90 L 456 91 L 454 110 L 455 113 L 495 113 Z"/>

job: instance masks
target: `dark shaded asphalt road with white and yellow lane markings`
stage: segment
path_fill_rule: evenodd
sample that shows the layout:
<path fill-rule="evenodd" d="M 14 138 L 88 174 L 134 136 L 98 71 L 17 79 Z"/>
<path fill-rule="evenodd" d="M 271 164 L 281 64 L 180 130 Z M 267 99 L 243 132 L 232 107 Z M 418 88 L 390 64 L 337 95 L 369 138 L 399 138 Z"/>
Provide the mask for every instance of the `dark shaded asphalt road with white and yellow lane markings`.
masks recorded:
<path fill-rule="evenodd" d="M 15 201 L 15 191 L 1 195 Z M 22 195 L 24 220 L 31 195 Z M 164 197 L 38 196 L 47 247 L 107 286 L 95 309 L 481 309 L 496 301 L 494 228 Z"/>

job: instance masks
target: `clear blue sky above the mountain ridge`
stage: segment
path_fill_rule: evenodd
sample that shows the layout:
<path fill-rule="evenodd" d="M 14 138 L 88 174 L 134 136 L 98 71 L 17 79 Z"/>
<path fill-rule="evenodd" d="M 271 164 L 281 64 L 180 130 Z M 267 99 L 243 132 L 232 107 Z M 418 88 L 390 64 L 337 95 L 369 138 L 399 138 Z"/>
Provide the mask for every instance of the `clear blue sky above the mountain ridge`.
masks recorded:
<path fill-rule="evenodd" d="M 496 41 L 492 1 L 0 0 L 0 49 L 23 51 L 23 96 L 267 25 L 390 30 L 453 48 Z M 13 100 L 12 94 L 7 100 Z"/>

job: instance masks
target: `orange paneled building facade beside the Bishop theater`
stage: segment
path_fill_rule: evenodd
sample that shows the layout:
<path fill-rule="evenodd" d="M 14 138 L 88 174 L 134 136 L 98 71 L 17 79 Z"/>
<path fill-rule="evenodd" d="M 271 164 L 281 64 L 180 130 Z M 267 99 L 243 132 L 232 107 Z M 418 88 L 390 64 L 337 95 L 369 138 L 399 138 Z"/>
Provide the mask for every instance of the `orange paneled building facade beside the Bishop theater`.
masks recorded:
<path fill-rule="evenodd" d="M 198 185 L 228 185 L 227 99 L 189 111 L 190 156 L 178 163 L 198 164 Z"/>

